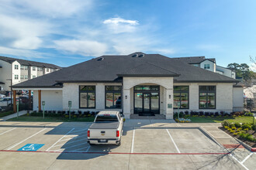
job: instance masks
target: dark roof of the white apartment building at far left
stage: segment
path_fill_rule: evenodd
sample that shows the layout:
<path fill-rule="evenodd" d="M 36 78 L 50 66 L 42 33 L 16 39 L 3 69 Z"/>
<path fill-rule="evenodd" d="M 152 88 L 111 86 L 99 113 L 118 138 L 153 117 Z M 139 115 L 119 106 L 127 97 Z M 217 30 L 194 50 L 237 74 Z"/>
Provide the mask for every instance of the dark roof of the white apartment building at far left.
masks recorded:
<path fill-rule="evenodd" d="M 51 69 L 61 69 L 61 66 L 56 66 L 56 65 L 50 64 L 50 63 L 40 63 L 40 62 L 36 62 L 36 61 L 29 61 L 26 59 L 16 59 L 16 58 L 7 57 L 7 56 L 0 56 L 0 59 L 5 62 L 8 62 L 8 63 L 18 61 L 23 66 L 39 66 L 39 67 L 47 67 L 47 68 L 51 68 Z"/>

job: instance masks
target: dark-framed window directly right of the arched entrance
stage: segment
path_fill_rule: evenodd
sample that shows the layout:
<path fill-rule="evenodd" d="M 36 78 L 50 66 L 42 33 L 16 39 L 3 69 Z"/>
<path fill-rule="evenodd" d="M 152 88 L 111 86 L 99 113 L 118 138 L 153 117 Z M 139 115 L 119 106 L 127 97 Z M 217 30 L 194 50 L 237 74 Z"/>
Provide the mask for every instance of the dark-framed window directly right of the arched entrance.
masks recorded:
<path fill-rule="evenodd" d="M 175 86 L 173 95 L 175 109 L 189 109 L 189 86 Z"/>

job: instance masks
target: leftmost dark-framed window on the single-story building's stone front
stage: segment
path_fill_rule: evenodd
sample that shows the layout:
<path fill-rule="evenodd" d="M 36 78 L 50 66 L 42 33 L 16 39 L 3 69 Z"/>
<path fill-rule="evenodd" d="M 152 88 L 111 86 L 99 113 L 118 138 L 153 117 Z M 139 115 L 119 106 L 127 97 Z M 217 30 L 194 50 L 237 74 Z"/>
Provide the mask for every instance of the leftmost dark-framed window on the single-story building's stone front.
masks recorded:
<path fill-rule="evenodd" d="M 95 86 L 79 86 L 79 107 L 95 108 Z"/>

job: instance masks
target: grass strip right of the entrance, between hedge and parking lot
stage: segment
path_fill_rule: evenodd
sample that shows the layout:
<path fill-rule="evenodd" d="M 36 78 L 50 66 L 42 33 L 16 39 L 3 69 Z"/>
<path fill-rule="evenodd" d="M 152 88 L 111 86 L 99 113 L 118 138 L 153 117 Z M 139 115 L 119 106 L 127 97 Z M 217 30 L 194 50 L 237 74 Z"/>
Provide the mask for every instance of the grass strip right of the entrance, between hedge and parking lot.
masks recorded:
<path fill-rule="evenodd" d="M 228 121 L 230 123 L 253 123 L 253 117 L 187 117 L 192 123 L 221 123 Z M 256 120 L 254 118 L 254 124 Z"/>

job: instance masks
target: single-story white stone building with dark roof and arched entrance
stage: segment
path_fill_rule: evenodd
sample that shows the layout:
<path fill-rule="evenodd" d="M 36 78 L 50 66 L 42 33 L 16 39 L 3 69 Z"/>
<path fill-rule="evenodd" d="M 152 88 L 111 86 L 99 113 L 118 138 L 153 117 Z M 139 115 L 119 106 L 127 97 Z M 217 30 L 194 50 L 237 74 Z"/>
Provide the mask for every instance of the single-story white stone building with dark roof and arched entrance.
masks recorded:
<path fill-rule="evenodd" d="M 42 101 L 45 110 L 69 110 L 71 101 L 71 110 L 119 110 L 126 118 L 163 114 L 172 119 L 178 109 L 232 112 L 243 104 L 243 88 L 236 83 L 179 59 L 137 52 L 100 56 L 12 87 L 33 90 L 33 110 L 42 110 Z"/>

